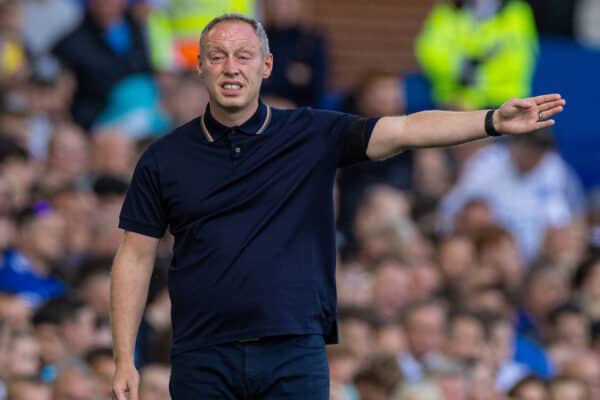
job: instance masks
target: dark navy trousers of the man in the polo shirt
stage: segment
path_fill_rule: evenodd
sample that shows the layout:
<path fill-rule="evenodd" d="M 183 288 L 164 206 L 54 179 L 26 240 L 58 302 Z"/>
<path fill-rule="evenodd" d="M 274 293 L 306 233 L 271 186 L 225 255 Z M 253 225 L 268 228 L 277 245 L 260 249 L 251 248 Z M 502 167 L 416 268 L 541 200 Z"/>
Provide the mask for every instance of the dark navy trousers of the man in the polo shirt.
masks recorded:
<path fill-rule="evenodd" d="M 207 346 L 172 357 L 173 400 L 328 400 L 321 335 Z"/>

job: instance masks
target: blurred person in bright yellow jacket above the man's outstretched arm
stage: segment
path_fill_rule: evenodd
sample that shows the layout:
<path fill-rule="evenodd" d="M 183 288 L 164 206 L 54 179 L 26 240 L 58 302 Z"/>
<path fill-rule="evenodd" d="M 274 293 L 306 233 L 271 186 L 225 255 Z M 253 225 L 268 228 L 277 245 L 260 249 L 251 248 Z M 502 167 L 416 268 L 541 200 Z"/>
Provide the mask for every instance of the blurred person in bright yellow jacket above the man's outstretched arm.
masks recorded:
<path fill-rule="evenodd" d="M 523 0 L 437 4 L 416 41 L 416 56 L 442 107 L 494 107 L 531 93 L 538 50 Z"/>

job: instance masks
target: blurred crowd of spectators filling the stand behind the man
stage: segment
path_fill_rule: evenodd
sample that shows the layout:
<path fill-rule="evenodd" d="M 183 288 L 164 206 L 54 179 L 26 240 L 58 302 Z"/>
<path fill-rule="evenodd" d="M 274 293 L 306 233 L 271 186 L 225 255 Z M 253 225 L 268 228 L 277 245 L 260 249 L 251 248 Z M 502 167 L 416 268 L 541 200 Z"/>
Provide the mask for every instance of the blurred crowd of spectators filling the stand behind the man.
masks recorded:
<path fill-rule="evenodd" d="M 437 2 L 414 43 L 437 106 L 531 95 L 538 32 L 597 40 L 594 24 L 541 3 Z M 204 110 L 197 40 L 223 10 L 265 23 L 266 102 L 326 104 L 331 51 L 302 8 L 0 0 L 0 400 L 111 398 L 110 269 L 136 160 Z M 339 110 L 406 112 L 403 78 L 380 67 Z M 550 130 L 355 165 L 333 195 L 332 400 L 600 399 L 600 195 Z M 171 246 L 167 235 L 136 345 L 142 400 L 169 398 Z"/>

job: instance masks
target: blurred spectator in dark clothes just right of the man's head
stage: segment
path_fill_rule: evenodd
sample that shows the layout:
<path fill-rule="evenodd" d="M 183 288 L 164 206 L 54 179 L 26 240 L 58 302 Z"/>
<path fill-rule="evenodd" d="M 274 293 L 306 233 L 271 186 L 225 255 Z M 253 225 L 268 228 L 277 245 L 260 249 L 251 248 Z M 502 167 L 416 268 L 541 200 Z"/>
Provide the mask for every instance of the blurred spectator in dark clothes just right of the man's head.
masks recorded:
<path fill-rule="evenodd" d="M 327 84 L 328 51 L 318 32 L 302 26 L 300 0 L 266 0 L 266 30 L 277 58 L 262 93 L 317 106 Z"/>

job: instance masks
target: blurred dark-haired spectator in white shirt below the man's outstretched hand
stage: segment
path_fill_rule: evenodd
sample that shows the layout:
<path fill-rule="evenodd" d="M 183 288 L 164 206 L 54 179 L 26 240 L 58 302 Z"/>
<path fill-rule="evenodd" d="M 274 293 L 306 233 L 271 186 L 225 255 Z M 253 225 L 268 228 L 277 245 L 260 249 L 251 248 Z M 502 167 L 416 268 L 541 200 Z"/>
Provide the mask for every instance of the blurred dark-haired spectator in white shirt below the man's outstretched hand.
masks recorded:
<path fill-rule="evenodd" d="M 546 229 L 583 217 L 584 197 L 578 178 L 552 149 L 551 132 L 512 139 L 516 140 L 508 146 L 485 147 L 468 161 L 443 200 L 442 221 L 445 229 L 451 229 L 452 219 L 467 201 L 483 200 L 514 235 L 529 262 L 541 251 Z"/>

